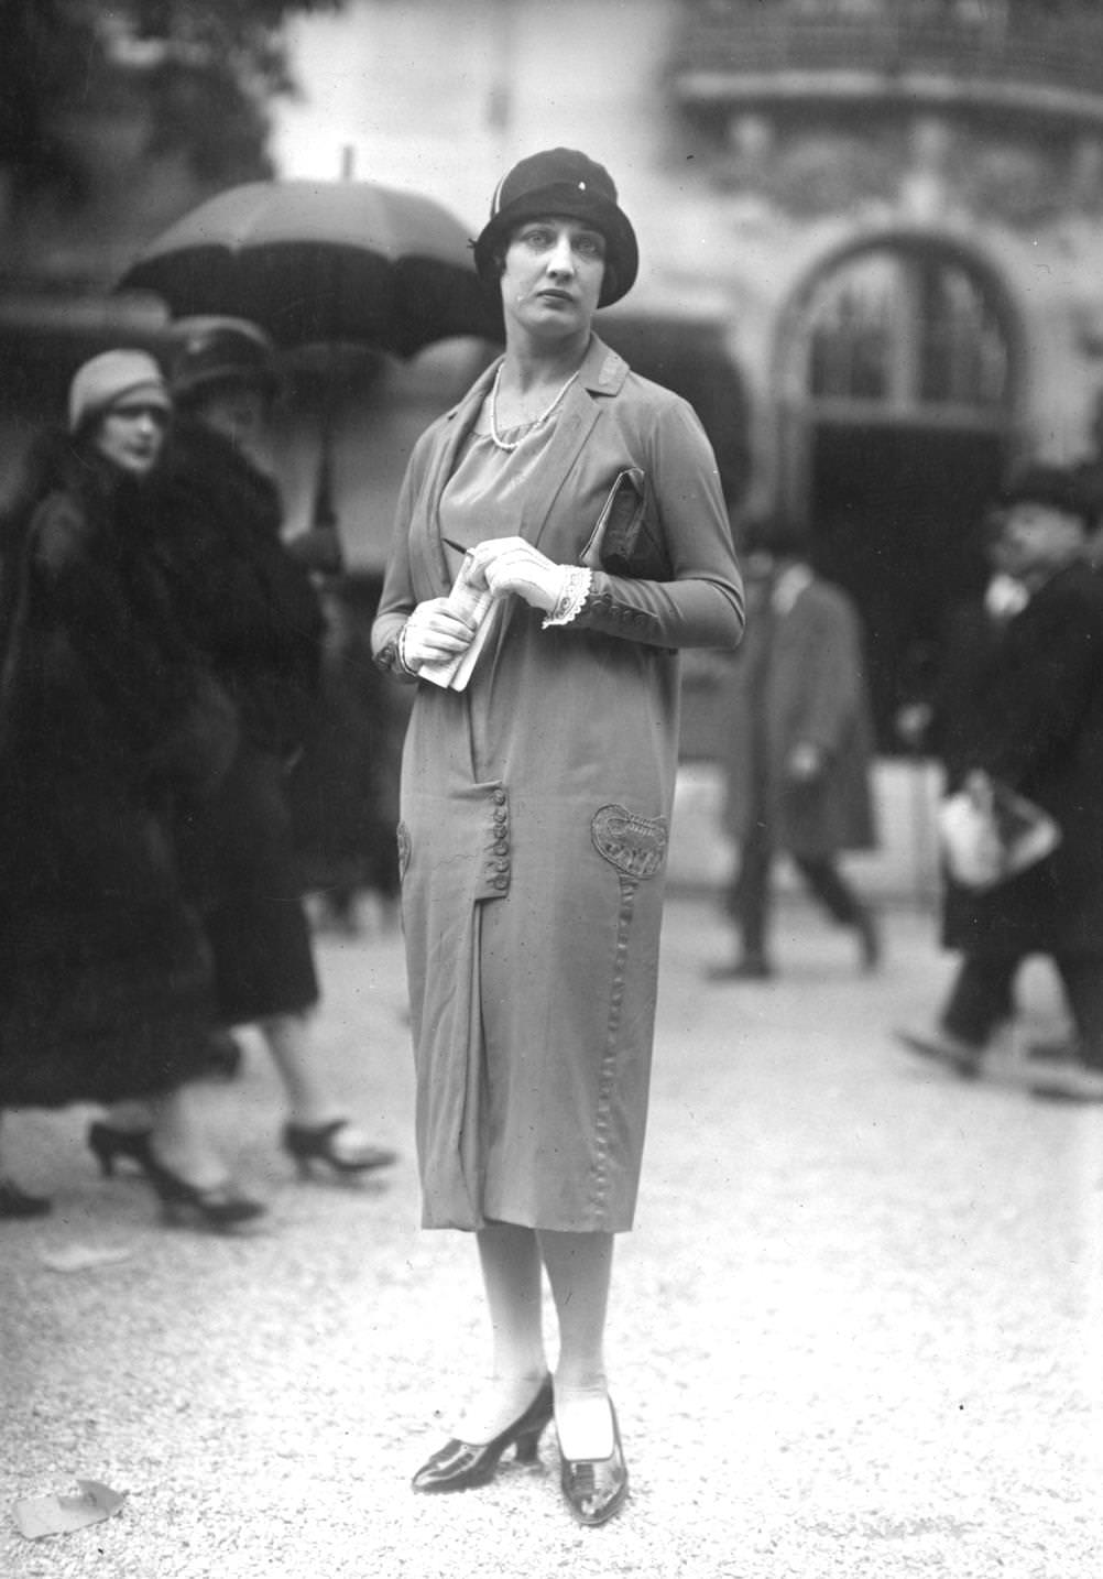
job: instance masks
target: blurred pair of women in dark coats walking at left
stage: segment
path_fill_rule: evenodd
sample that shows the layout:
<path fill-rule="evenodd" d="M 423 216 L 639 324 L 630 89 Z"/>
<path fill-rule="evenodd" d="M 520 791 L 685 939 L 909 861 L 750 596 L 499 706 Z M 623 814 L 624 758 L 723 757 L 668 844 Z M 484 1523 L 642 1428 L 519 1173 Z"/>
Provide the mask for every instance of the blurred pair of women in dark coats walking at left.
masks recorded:
<path fill-rule="evenodd" d="M 0 543 L 0 1110 L 99 1104 L 104 1173 L 218 1232 L 264 1213 L 213 1140 L 237 1026 L 303 1176 L 393 1161 L 312 1045 L 303 894 L 344 928 L 366 889 L 393 902 L 401 704 L 366 655 L 379 587 L 286 538 L 257 463 L 278 396 L 243 321 L 183 321 L 167 379 L 92 358 Z M 0 1172 L 0 1216 L 49 1205 Z"/>

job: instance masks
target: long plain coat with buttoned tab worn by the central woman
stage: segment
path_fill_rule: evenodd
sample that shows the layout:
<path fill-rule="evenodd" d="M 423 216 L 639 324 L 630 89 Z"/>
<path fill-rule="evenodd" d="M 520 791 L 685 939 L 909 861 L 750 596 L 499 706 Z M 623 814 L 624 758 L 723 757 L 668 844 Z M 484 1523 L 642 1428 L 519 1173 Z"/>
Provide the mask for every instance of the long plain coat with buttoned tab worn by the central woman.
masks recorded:
<path fill-rule="evenodd" d="M 372 633 L 450 589 L 443 488 L 491 368 L 418 442 Z M 579 564 L 622 472 L 664 579 L 595 570 L 566 625 L 519 597 L 462 692 L 418 682 L 399 857 L 426 1227 L 628 1228 L 647 1116 L 680 646 L 743 598 L 701 423 L 592 338 L 518 535 Z"/>

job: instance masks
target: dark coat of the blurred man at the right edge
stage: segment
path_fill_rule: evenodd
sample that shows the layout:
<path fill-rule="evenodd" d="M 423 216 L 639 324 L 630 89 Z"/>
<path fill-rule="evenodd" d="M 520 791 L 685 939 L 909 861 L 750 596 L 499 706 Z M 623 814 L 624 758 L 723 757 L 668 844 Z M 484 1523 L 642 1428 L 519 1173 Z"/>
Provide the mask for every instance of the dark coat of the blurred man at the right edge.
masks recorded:
<path fill-rule="evenodd" d="M 983 769 L 1049 812 L 1057 850 L 985 894 L 947 892 L 947 947 L 999 955 L 1103 957 L 1103 584 L 1073 564 L 1005 625 L 974 696 Z"/>

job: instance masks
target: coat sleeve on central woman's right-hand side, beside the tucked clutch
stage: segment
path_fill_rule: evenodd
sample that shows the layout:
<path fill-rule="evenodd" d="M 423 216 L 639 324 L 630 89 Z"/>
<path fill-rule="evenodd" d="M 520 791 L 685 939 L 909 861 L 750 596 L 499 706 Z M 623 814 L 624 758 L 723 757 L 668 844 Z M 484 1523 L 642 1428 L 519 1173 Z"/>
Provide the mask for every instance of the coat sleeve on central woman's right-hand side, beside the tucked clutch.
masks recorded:
<path fill-rule="evenodd" d="M 652 507 L 669 581 L 593 572 L 574 627 L 658 647 L 735 647 L 743 583 L 712 445 L 686 401 L 653 401 L 644 431 Z"/>

